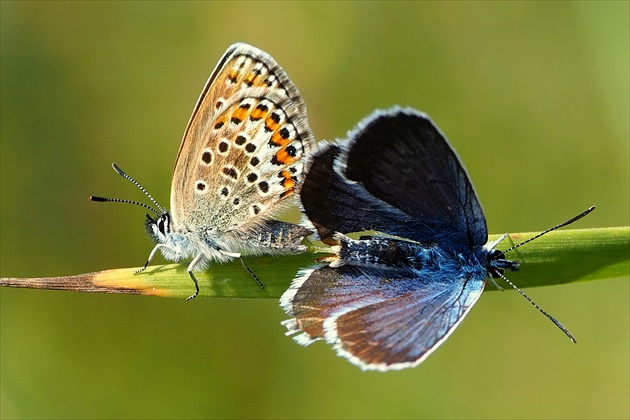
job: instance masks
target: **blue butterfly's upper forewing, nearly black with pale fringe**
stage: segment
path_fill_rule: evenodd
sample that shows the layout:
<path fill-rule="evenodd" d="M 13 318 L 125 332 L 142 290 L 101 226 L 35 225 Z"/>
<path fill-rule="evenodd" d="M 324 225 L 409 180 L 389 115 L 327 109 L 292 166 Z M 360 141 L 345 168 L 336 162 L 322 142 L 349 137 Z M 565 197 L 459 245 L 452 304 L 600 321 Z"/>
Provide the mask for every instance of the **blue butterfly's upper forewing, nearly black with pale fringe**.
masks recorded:
<path fill-rule="evenodd" d="M 342 174 L 409 215 L 414 223 L 405 237 L 468 249 L 486 243 L 485 217 L 468 175 L 427 116 L 398 108 L 376 112 L 350 139 Z"/>

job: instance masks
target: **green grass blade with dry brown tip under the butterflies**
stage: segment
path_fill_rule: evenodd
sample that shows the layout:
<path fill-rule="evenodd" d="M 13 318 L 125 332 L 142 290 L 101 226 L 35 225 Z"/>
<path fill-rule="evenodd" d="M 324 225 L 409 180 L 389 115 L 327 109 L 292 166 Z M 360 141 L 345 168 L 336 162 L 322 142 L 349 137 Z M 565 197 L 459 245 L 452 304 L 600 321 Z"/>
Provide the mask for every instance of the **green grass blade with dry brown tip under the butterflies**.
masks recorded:
<path fill-rule="evenodd" d="M 507 249 L 534 235 L 510 234 L 497 248 Z M 490 239 L 498 236 L 491 235 Z M 238 260 L 212 264 L 196 274 L 199 297 L 277 299 L 300 268 L 313 266 L 316 258 L 329 255 L 326 248 L 311 250 L 312 253 L 301 255 L 246 258 L 264 289 Z M 625 277 L 630 271 L 630 227 L 558 230 L 515 249 L 507 257 L 521 262 L 520 271 L 506 273 L 521 288 Z M 134 274 L 137 268 L 122 268 L 65 277 L 3 278 L 0 285 L 185 299 L 194 291 L 186 267 L 186 264 L 153 265 L 140 274 Z"/>

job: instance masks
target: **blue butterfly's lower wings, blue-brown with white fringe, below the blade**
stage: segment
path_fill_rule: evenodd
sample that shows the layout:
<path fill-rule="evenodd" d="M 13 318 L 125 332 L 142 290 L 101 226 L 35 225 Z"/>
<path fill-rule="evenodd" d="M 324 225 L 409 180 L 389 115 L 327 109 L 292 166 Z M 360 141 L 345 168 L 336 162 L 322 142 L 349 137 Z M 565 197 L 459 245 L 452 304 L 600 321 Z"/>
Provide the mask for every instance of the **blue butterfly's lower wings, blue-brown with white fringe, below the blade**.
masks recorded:
<path fill-rule="evenodd" d="M 392 276 L 374 268 L 304 270 L 282 296 L 287 335 L 303 345 L 325 339 L 364 370 L 413 367 L 459 325 L 483 278 Z M 402 274 L 402 272 L 401 272 Z"/>

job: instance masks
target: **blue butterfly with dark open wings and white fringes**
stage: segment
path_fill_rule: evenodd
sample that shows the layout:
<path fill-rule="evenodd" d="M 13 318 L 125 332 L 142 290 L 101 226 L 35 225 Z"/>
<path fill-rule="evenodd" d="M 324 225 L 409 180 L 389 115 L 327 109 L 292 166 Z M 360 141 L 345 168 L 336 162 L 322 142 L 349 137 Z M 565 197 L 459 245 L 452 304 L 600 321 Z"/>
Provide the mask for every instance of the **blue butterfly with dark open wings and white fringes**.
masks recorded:
<path fill-rule="evenodd" d="M 487 280 L 516 288 L 503 273 L 519 263 L 495 249 L 503 238 L 488 242 L 468 175 L 427 115 L 377 111 L 349 140 L 319 147 L 307 165 L 303 210 L 335 256 L 302 270 L 280 299 L 291 317 L 286 334 L 298 343 L 325 340 L 364 370 L 417 366 L 464 319 Z M 345 235 L 366 231 L 377 233 Z"/>

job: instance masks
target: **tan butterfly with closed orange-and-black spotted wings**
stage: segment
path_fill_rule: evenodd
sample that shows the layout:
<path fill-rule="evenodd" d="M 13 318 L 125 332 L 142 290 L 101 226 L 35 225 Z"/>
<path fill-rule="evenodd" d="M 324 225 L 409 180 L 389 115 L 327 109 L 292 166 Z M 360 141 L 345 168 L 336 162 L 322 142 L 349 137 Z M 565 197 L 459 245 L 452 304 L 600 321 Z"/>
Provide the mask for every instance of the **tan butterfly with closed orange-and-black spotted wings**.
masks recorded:
<path fill-rule="evenodd" d="M 146 228 L 157 245 L 138 271 L 158 250 L 167 260 L 192 259 L 192 299 L 199 293 L 193 271 L 211 261 L 305 250 L 301 242 L 308 229 L 270 216 L 299 192 L 302 158 L 313 141 L 304 100 L 284 70 L 267 53 L 237 43 L 219 60 L 184 132 L 173 170 L 171 211 L 116 165 L 116 172 L 158 210 L 130 200 L 90 199 L 154 212 L 155 218 L 147 213 Z"/>

